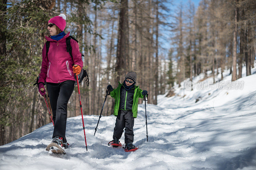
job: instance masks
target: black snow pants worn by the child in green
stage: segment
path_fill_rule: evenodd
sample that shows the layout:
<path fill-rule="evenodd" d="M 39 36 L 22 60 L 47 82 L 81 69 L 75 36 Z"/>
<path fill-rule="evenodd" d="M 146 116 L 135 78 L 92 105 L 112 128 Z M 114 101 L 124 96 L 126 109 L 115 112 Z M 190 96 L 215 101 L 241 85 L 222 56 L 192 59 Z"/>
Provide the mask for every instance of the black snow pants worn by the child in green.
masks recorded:
<path fill-rule="evenodd" d="M 125 128 L 124 143 L 132 143 L 134 136 L 134 117 L 132 116 L 132 110 L 118 110 L 115 125 L 113 138 L 116 137 L 119 140 Z"/>

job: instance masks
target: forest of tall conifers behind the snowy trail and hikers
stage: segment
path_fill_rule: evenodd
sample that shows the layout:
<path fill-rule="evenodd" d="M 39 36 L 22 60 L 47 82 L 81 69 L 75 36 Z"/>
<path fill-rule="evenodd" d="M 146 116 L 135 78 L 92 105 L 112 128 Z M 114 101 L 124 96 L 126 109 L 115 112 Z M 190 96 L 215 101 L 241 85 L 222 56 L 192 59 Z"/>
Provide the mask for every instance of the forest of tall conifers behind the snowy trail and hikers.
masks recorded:
<path fill-rule="evenodd" d="M 175 1 L 176 2 L 176 1 Z M 1 0 L 0 145 L 48 124 L 51 119 L 37 86 L 48 21 L 64 13 L 65 33 L 79 41 L 90 85 L 80 84 L 84 115 L 99 115 L 108 84 L 128 71 L 148 91 L 172 96 L 172 87 L 211 71 L 230 70 L 232 80 L 251 75 L 256 55 L 256 1 L 202 0 Z M 223 78 L 223 75 L 222 75 Z M 192 88 L 193 90 L 193 88 Z M 142 99 L 139 101 L 142 103 Z M 48 103 L 49 100 L 48 100 Z M 113 114 L 108 99 L 102 115 Z M 79 116 L 77 88 L 68 117 Z"/>

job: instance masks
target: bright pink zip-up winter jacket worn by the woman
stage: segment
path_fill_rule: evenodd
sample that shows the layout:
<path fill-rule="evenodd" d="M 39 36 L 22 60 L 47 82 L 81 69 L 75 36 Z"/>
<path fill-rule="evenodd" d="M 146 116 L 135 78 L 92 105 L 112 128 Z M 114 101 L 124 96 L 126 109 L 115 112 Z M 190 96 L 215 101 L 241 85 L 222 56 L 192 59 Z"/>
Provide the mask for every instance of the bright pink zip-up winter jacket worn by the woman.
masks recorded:
<path fill-rule="evenodd" d="M 48 57 L 45 57 L 46 44 L 44 44 L 39 83 L 44 83 L 45 81 L 51 83 L 60 83 L 66 80 L 76 81 L 72 67 L 74 64 L 77 64 L 83 68 L 83 61 L 81 53 L 79 52 L 78 43 L 75 40 L 70 39 L 73 59 L 67 52 L 66 38 L 68 36 L 69 32 L 59 41 L 45 36 L 46 40 L 50 41 L 50 47 Z"/>

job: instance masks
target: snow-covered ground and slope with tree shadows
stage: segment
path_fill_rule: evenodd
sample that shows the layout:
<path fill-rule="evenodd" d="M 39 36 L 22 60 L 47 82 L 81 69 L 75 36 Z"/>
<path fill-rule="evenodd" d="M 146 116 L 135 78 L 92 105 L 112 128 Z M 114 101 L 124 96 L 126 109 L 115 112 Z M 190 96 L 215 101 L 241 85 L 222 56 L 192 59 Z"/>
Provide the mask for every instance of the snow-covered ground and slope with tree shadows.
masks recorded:
<path fill-rule="evenodd" d="M 72 146 L 66 155 L 45 151 L 53 131 L 47 124 L 0 146 L 0 169 L 256 169 L 256 69 L 235 82 L 228 72 L 216 84 L 212 77 L 199 81 L 199 75 L 193 91 L 176 86 L 175 96 L 159 95 L 157 105 L 148 104 L 148 142 L 145 105 L 140 104 L 134 123 L 136 152 L 107 146 L 116 117 L 101 117 L 93 136 L 99 116 L 84 115 L 88 152 L 81 116 L 71 117 L 66 135 Z M 124 136 L 120 141 L 124 144 Z"/>

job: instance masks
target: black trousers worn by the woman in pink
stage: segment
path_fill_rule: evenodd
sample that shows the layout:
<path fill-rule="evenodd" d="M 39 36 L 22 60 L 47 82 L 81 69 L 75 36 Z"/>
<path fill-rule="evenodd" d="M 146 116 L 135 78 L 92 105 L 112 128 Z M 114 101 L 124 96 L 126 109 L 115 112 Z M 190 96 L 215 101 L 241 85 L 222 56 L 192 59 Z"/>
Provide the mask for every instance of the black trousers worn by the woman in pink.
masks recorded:
<path fill-rule="evenodd" d="M 54 122 L 54 136 L 60 136 L 65 140 L 67 124 L 67 105 L 73 93 L 75 81 L 67 80 L 61 83 L 47 83 L 47 91 L 52 107 L 52 119 Z M 65 141 L 63 141 L 65 142 Z"/>

